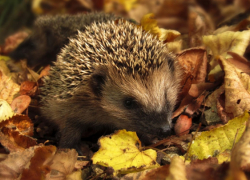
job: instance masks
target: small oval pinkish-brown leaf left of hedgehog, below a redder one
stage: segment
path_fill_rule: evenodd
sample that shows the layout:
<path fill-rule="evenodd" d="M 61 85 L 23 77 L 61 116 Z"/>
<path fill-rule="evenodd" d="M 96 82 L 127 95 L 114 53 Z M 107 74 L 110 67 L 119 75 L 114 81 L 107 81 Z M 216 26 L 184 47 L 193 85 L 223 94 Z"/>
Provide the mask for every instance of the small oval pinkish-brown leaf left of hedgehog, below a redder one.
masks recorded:
<path fill-rule="evenodd" d="M 28 108 L 31 102 L 31 98 L 27 95 L 21 95 L 15 98 L 11 103 L 11 108 L 16 114 L 21 114 Z"/>

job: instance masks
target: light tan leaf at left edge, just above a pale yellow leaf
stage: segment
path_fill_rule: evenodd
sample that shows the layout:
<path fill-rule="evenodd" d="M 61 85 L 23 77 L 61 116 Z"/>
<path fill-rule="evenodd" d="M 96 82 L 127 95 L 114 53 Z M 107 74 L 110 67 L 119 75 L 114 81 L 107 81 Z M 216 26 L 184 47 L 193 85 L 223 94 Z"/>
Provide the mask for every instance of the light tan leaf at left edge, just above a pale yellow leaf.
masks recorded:
<path fill-rule="evenodd" d="M 4 99 L 11 104 L 19 89 L 20 86 L 11 79 L 9 68 L 6 66 L 5 61 L 0 61 L 0 99 Z"/>

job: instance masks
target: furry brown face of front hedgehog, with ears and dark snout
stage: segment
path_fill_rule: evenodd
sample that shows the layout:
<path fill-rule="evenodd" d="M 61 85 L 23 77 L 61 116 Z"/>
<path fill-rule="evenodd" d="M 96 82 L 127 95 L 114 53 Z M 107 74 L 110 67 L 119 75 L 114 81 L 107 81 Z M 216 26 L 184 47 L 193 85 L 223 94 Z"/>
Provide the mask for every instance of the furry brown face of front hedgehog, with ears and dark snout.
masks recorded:
<path fill-rule="evenodd" d="M 101 85 L 96 83 L 93 87 L 101 97 L 101 108 L 109 114 L 106 122 L 110 119 L 116 128 L 138 133 L 170 132 L 178 82 L 167 61 L 149 71 L 146 77 L 121 73 L 112 67 L 99 72 L 95 82 Z"/>

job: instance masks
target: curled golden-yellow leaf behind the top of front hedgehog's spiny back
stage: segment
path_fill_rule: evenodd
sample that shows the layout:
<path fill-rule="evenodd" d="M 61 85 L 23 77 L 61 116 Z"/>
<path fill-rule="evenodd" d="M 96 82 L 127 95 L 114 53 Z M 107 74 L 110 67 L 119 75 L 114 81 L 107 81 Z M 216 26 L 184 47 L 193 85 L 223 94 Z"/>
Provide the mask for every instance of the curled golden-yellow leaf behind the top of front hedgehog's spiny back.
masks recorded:
<path fill-rule="evenodd" d="M 145 31 L 157 36 L 160 41 L 164 42 L 172 42 L 181 35 L 175 30 L 159 28 L 153 13 L 143 16 L 141 19 L 141 26 Z"/>

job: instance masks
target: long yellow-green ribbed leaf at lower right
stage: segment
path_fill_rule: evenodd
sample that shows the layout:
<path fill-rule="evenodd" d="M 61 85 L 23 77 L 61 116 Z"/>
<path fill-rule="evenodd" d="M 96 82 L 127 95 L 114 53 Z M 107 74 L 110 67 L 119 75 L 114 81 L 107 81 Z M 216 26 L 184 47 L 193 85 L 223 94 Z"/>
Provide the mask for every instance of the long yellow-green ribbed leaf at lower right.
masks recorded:
<path fill-rule="evenodd" d="M 198 159 L 205 159 L 216 156 L 218 153 L 231 149 L 234 142 L 238 142 L 245 130 L 245 122 L 249 114 L 230 120 L 226 125 L 211 131 L 204 131 L 197 137 L 190 146 L 189 157 L 195 156 Z M 237 136 L 235 137 L 235 135 Z M 236 138 L 236 139 L 235 139 Z"/>

